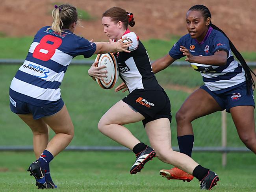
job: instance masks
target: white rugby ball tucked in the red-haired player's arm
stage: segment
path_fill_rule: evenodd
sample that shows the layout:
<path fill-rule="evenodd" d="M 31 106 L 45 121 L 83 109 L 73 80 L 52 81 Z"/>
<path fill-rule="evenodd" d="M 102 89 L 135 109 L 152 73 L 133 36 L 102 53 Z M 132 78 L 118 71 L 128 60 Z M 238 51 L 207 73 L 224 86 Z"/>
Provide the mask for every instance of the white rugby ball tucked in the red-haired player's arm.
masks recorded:
<path fill-rule="evenodd" d="M 117 68 L 117 59 L 115 58 L 115 55 L 113 55 L 112 53 L 98 54 L 95 61 L 99 62 L 98 66 L 102 66 L 102 65 L 106 66 L 101 70 L 108 71 L 108 73 L 106 74 L 107 75 L 106 78 L 103 78 L 103 80 L 96 78 L 96 82 L 103 89 L 113 88 L 117 83 L 117 79 L 119 77 L 119 71 Z"/>

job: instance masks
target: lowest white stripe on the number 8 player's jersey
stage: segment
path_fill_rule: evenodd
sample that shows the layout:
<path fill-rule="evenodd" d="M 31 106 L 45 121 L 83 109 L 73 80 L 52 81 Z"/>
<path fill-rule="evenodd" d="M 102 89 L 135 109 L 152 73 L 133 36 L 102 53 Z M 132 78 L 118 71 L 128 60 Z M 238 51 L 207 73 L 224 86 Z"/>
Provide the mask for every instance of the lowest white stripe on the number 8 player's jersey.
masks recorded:
<path fill-rule="evenodd" d="M 19 79 L 13 78 L 11 81 L 10 88 L 21 94 L 33 97 L 35 99 L 47 100 L 47 101 L 58 101 L 60 97 L 60 89 L 44 89 L 31 85 L 29 83 L 20 81 Z"/>

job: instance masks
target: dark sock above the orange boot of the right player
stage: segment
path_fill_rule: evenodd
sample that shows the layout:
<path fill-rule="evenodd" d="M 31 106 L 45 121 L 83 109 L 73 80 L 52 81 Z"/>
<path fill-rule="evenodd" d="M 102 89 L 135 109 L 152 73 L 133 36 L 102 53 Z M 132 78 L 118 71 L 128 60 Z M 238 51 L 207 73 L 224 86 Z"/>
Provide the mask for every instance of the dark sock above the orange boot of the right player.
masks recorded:
<path fill-rule="evenodd" d="M 180 148 L 180 153 L 184 153 L 191 157 L 192 155 L 192 148 L 194 144 L 194 135 L 183 135 L 177 137 L 178 144 Z"/>

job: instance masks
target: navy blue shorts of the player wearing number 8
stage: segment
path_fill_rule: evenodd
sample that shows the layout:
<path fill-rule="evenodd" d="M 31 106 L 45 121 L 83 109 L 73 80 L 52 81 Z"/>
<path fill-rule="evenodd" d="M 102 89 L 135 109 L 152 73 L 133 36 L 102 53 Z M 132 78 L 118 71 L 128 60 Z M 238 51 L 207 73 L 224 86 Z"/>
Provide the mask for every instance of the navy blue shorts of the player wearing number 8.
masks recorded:
<path fill-rule="evenodd" d="M 29 114 L 32 113 L 33 119 L 40 119 L 44 116 L 50 116 L 57 112 L 59 112 L 64 106 L 64 102 L 62 99 L 59 99 L 56 102 L 53 102 L 52 107 L 39 107 L 32 105 L 30 103 L 26 103 L 17 99 L 13 99 L 10 97 L 10 108 L 13 113 L 16 114 Z"/>

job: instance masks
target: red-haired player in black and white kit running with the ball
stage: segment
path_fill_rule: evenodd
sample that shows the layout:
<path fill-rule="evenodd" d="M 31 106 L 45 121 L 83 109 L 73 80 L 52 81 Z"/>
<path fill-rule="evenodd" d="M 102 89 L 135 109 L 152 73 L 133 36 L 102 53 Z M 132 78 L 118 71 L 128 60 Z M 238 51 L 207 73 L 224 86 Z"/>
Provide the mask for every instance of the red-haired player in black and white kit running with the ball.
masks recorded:
<path fill-rule="evenodd" d="M 122 80 L 130 94 L 111 107 L 100 119 L 98 129 L 104 135 L 129 148 L 136 155 L 130 174 L 140 172 L 146 162 L 157 157 L 195 175 L 201 188 L 210 189 L 219 177 L 200 166 L 189 156 L 171 148 L 171 105 L 168 96 L 152 72 L 147 51 L 139 37 L 128 29 L 134 26 L 133 14 L 120 7 L 112 7 L 102 15 L 104 33 L 111 39 L 132 41 L 130 53 L 117 53 Z M 140 142 L 123 125 L 142 121 L 152 148 Z M 154 150 L 153 150 L 154 148 Z"/>

